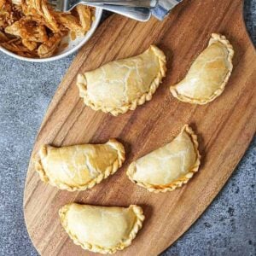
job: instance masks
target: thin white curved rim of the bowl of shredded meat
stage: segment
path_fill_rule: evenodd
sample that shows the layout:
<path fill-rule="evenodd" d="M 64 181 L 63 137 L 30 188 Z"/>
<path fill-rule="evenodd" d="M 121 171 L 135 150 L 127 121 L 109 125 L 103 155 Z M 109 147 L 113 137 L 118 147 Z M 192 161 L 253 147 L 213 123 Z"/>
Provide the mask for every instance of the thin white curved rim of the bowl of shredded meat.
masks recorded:
<path fill-rule="evenodd" d="M 73 47 L 73 49 L 67 50 L 67 52 L 62 53 L 60 55 L 51 56 L 48 58 L 28 58 L 20 55 L 16 55 L 15 53 L 9 51 L 8 49 L 3 48 L 3 46 L 0 46 L 0 51 L 2 51 L 4 54 L 9 55 L 15 59 L 18 59 L 20 61 L 28 61 L 28 62 L 49 62 L 49 61 L 57 61 L 62 58 L 67 57 L 68 55 L 72 55 L 75 51 L 80 49 L 84 44 L 86 44 L 91 36 L 96 32 L 96 28 L 98 27 L 100 21 L 102 19 L 102 9 L 99 7 L 96 7 L 96 18 L 93 22 L 93 26 L 90 27 L 90 30 L 85 34 L 84 39 L 81 40 L 81 42 Z"/>

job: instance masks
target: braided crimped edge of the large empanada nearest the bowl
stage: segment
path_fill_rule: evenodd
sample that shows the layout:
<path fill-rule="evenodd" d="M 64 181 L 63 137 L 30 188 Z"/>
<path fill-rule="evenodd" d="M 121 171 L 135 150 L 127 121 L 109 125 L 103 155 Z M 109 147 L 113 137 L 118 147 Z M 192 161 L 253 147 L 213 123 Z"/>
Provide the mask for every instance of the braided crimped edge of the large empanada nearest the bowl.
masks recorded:
<path fill-rule="evenodd" d="M 155 45 L 150 45 L 147 50 L 152 49 L 154 51 L 154 55 L 156 55 L 159 59 L 160 63 L 160 71 L 157 74 L 156 78 L 149 86 L 149 90 L 147 93 L 144 93 L 139 98 L 133 100 L 129 104 L 121 107 L 121 108 L 105 108 L 102 107 L 101 104 L 96 105 L 94 102 L 90 101 L 90 98 L 87 94 L 87 81 L 84 74 L 79 74 L 77 79 L 77 85 L 79 87 L 79 96 L 84 98 L 84 104 L 93 110 L 102 110 L 104 113 L 112 113 L 113 116 L 119 115 L 119 113 L 126 113 L 128 110 L 134 110 L 138 105 L 143 105 L 144 102 L 150 101 L 152 96 L 154 95 L 155 90 L 159 87 L 161 80 L 166 76 L 166 55 L 162 50 L 160 50 Z"/>

